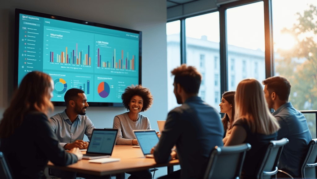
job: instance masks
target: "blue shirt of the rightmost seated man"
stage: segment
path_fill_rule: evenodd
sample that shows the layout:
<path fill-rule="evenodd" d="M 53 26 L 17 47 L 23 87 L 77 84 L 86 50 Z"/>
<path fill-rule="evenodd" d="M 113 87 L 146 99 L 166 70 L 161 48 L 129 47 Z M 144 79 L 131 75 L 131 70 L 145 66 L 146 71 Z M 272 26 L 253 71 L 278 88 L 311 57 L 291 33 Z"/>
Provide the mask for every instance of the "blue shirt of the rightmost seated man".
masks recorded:
<path fill-rule="evenodd" d="M 280 106 L 273 116 L 280 124 L 277 140 L 286 137 L 289 142 L 283 148 L 278 167 L 292 176 L 300 176 L 300 165 L 308 143 L 312 140 L 305 116 L 288 102 Z"/>

